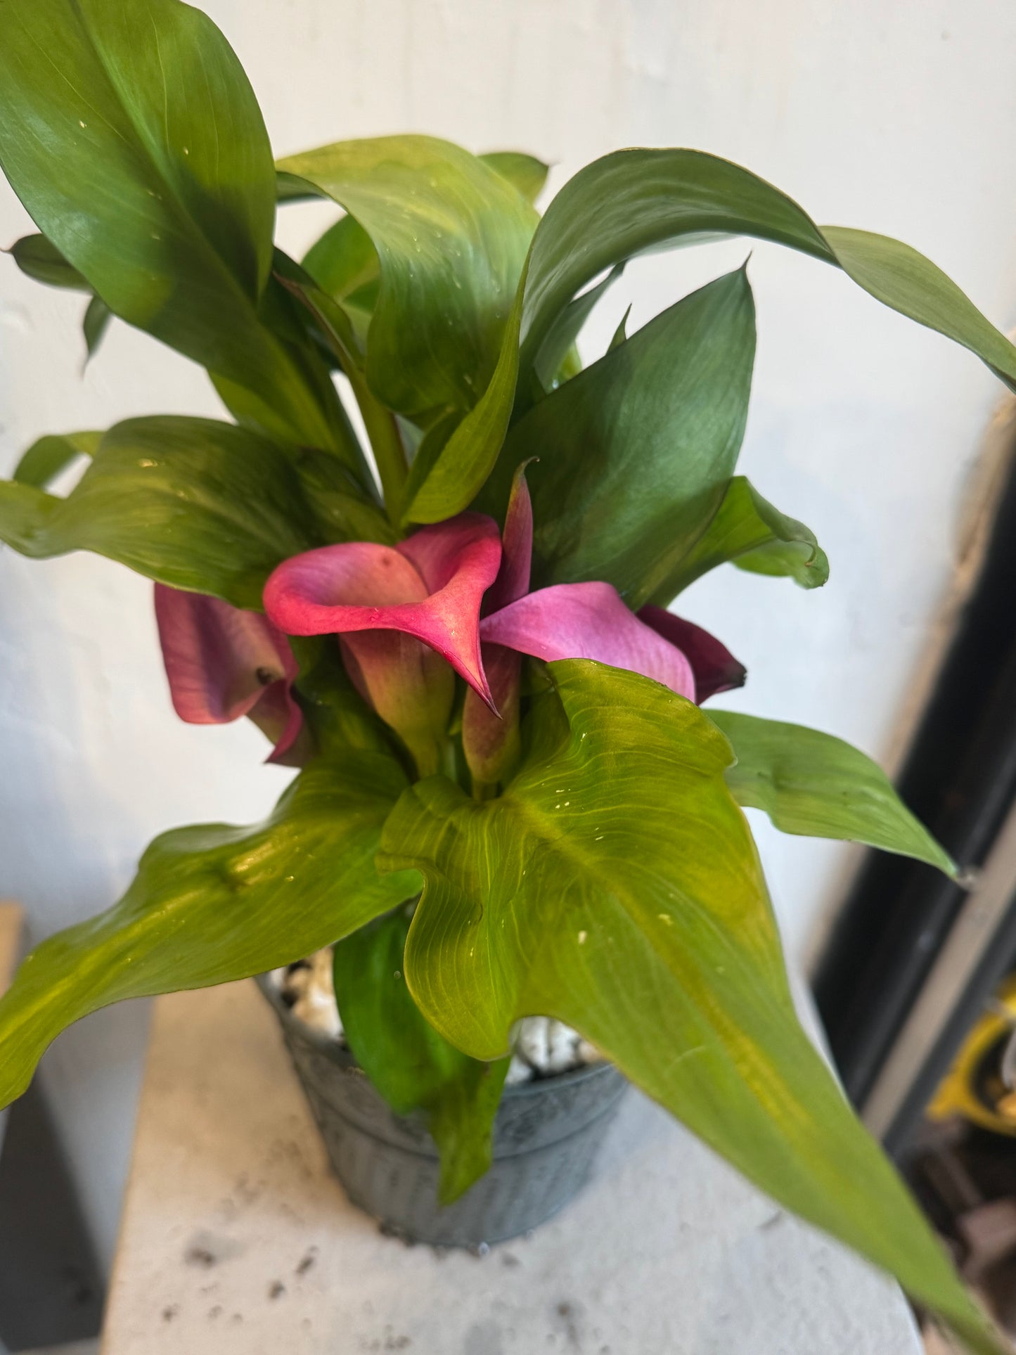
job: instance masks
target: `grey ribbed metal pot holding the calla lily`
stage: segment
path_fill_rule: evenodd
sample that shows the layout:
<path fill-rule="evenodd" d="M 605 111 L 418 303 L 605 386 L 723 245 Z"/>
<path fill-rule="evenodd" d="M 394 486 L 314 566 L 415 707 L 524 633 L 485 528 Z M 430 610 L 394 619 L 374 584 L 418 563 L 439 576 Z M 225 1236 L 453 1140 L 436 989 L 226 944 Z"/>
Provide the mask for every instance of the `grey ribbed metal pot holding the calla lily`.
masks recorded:
<path fill-rule="evenodd" d="M 610 1064 L 505 1087 L 490 1171 L 442 1209 L 438 1148 L 423 1115 L 396 1115 L 347 1049 L 297 1019 L 267 977 L 257 982 L 282 1022 L 335 1173 L 386 1229 L 475 1248 L 536 1228 L 585 1183 L 627 1085 Z"/>

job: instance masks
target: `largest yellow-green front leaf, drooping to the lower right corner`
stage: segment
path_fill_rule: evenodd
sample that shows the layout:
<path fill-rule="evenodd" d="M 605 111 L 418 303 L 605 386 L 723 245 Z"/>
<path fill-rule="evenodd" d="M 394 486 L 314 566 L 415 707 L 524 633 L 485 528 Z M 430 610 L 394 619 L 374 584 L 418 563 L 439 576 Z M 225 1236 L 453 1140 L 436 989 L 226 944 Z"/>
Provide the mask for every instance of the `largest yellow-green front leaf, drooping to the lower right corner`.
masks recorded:
<path fill-rule="evenodd" d="M 891 1271 L 979 1351 L 998 1351 L 895 1169 L 794 1012 L 730 747 L 691 702 L 585 660 L 550 665 L 523 767 L 477 802 L 410 786 L 382 869 L 425 879 L 405 974 L 474 1058 L 543 1014 L 783 1206 Z"/>

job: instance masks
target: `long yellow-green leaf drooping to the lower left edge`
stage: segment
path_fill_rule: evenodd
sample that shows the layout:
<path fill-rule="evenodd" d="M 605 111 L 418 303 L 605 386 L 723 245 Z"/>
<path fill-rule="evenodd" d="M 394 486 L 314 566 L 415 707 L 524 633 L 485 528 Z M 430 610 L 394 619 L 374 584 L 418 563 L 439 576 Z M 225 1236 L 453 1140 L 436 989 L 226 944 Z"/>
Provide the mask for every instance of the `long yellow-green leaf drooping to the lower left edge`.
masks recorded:
<path fill-rule="evenodd" d="M 123 898 L 45 940 L 0 999 L 0 1104 L 88 1012 L 287 965 L 410 897 L 415 873 L 374 869 L 404 786 L 391 757 L 347 749 L 302 771 L 257 828 L 206 824 L 157 837 Z"/>

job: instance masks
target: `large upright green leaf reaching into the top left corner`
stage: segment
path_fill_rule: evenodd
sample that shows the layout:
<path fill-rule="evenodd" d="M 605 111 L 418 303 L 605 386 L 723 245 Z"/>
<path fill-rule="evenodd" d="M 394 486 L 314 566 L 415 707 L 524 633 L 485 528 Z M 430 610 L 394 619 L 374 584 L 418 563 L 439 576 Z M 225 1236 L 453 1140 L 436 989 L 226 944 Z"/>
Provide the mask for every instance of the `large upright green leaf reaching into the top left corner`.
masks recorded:
<path fill-rule="evenodd" d="M 0 164 L 58 253 L 263 427 L 332 446 L 333 406 L 259 320 L 275 172 L 218 28 L 179 0 L 4 0 L 0 19 Z"/>

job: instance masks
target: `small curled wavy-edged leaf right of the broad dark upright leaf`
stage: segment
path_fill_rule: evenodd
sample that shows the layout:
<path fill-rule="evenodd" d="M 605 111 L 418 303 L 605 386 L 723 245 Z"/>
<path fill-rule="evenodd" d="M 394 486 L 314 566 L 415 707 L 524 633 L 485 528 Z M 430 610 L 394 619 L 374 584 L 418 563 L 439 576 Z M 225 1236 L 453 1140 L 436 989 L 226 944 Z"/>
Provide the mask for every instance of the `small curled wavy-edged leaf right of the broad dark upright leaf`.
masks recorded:
<path fill-rule="evenodd" d="M 744 476 L 733 477 L 704 535 L 653 600 L 666 606 L 688 584 L 727 561 L 749 573 L 792 579 L 802 588 L 821 588 L 829 579 L 829 561 L 814 534 L 774 508 Z"/>

